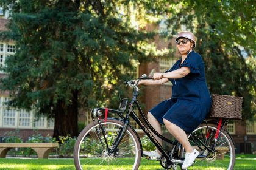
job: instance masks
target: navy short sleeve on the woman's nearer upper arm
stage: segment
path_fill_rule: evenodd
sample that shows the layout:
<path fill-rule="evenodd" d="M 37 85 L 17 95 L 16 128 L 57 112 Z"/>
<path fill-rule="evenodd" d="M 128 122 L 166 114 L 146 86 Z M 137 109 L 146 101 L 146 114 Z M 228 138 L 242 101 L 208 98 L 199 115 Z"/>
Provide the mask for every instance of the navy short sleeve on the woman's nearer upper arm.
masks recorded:
<path fill-rule="evenodd" d="M 202 57 L 193 52 L 187 56 L 186 60 L 180 65 L 180 67 L 189 67 L 191 73 L 200 75 L 200 65 L 203 63 Z"/>

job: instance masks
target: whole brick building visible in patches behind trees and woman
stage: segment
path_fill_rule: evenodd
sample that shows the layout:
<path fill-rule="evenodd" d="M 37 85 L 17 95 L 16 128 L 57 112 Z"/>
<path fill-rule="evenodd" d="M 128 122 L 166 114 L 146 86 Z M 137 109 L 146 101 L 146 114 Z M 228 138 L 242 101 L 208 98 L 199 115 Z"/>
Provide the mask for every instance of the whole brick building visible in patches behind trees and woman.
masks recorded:
<path fill-rule="evenodd" d="M 7 30 L 8 17 L 10 12 L 3 11 L 0 7 L 0 32 Z M 159 32 L 165 32 L 166 26 L 164 22 L 160 25 L 147 25 L 146 30 L 151 31 L 158 29 Z M 155 37 L 155 44 L 158 49 L 168 49 L 169 47 L 175 48 L 174 39 L 168 40 L 161 36 Z M 5 58 L 11 57 L 15 53 L 14 41 L 2 41 L 0 39 L 0 66 L 4 66 Z M 204 56 L 203 56 L 204 57 Z M 153 75 L 155 72 L 164 72 L 169 69 L 177 60 L 179 55 L 171 56 L 170 58 L 159 58 L 155 63 L 141 63 L 138 67 L 138 75 L 146 73 Z M 5 77 L 6 74 L 0 72 L 0 77 Z M 153 106 L 160 101 L 171 97 L 171 82 L 165 83 L 162 86 L 147 86 L 143 89 L 143 95 L 140 96 L 141 103 L 144 104 L 144 113 L 148 112 Z M 15 108 L 5 107 L 4 101 L 9 100 L 8 92 L 0 92 L 0 142 L 2 137 L 8 135 L 8 132 L 19 129 L 20 137 L 27 140 L 27 137 L 34 134 L 36 129 L 43 135 L 52 135 L 54 120 L 47 118 L 37 118 L 34 112 L 26 112 L 26 110 L 17 110 Z M 90 114 L 83 114 L 80 121 L 85 121 L 85 124 L 91 120 Z M 131 121 L 131 124 L 138 128 L 138 126 Z M 237 152 L 252 152 L 256 151 L 256 123 L 247 121 L 232 121 L 227 126 L 228 131 L 233 136 Z M 140 129 L 137 132 L 143 133 Z M 246 143 L 246 144 L 244 144 Z"/>

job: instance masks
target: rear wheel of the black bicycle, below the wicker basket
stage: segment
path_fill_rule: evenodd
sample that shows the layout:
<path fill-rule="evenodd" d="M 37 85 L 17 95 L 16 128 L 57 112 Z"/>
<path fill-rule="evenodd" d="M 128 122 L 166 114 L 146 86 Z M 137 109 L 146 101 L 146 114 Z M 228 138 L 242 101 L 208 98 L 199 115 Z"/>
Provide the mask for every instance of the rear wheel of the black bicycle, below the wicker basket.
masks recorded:
<path fill-rule="evenodd" d="M 204 158 L 197 158 L 193 166 L 188 169 L 233 169 L 235 165 L 235 147 L 232 138 L 226 131 L 222 130 L 219 134 L 219 139 L 216 142 L 215 151 L 209 152 L 199 142 L 202 141 L 206 146 L 210 147 L 214 143 L 214 137 L 217 131 L 215 125 L 202 124 L 192 132 L 193 135 L 188 135 L 188 141 L 201 154 L 199 156 L 207 155 Z M 185 149 L 182 148 L 182 157 L 185 157 Z"/>

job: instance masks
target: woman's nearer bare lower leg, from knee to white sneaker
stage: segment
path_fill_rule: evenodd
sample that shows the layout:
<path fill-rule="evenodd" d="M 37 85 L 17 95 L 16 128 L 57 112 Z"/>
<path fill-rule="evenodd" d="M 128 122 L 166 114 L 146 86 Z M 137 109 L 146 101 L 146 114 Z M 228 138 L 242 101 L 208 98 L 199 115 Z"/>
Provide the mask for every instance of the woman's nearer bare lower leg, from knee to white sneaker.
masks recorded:
<path fill-rule="evenodd" d="M 183 129 L 181 129 L 176 124 L 171 123 L 170 121 L 163 119 L 163 123 L 165 123 L 166 128 L 168 131 L 184 146 L 186 152 L 193 152 L 193 147 L 191 146 L 190 142 L 188 141 L 187 134 Z"/>

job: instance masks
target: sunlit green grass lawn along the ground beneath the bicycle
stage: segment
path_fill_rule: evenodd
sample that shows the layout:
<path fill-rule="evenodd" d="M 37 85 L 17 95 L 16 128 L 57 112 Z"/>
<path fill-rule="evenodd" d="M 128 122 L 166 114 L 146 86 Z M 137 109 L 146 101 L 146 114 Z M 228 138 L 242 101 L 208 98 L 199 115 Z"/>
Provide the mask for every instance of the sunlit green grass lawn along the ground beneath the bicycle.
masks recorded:
<path fill-rule="evenodd" d="M 235 169 L 256 169 L 256 160 L 253 160 L 252 158 L 256 158 L 256 155 L 236 155 L 238 159 L 236 159 L 235 163 Z M 119 165 L 114 166 L 114 168 L 107 168 L 107 167 L 101 167 L 93 165 L 93 163 L 90 163 L 90 165 L 85 166 L 85 169 L 131 169 L 129 166 L 124 166 L 121 168 Z M 0 158 L 0 169 L 75 169 L 73 159 L 16 159 L 16 158 Z M 162 166 L 160 166 L 159 161 L 152 161 L 152 160 L 145 160 L 144 158 L 141 159 L 140 164 L 141 170 L 157 170 L 157 169 L 163 169 Z M 198 167 L 193 167 L 191 169 L 199 169 Z M 210 168 L 210 169 L 219 169 L 219 168 Z"/>

